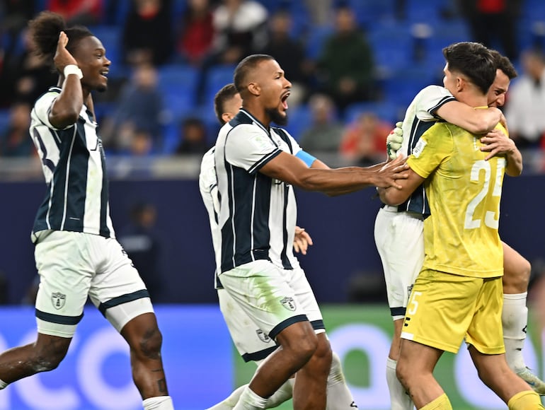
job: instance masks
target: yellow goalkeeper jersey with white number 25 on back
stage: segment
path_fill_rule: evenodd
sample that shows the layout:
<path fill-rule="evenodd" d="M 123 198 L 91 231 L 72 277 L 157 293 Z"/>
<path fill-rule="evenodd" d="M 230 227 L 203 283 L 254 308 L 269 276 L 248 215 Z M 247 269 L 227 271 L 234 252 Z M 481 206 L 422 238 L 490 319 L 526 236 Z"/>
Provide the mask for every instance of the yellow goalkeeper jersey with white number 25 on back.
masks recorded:
<path fill-rule="evenodd" d="M 498 218 L 506 160 L 486 161 L 481 146 L 478 136 L 438 122 L 408 158 L 411 169 L 426 178 L 431 210 L 424 221 L 423 268 L 479 278 L 503 275 Z"/>

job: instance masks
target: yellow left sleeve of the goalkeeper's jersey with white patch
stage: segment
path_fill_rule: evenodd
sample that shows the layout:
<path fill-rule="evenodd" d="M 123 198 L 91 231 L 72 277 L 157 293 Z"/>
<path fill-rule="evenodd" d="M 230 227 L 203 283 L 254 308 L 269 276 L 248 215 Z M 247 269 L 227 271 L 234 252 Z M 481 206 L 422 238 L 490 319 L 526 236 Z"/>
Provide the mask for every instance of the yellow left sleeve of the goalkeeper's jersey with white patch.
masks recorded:
<path fill-rule="evenodd" d="M 407 163 L 420 177 L 427 178 L 444 160 L 448 160 L 453 149 L 452 132 L 446 123 L 439 122 L 420 136 Z"/>

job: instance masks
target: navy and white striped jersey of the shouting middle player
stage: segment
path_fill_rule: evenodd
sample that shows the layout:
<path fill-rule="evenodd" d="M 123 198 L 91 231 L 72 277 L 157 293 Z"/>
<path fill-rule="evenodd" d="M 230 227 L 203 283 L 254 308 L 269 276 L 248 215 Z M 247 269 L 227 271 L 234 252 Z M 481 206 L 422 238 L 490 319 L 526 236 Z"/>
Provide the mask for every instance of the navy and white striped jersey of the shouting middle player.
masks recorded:
<path fill-rule="evenodd" d="M 243 109 L 219 131 L 214 163 L 222 272 L 257 259 L 284 269 L 298 266 L 292 253 L 294 189 L 259 172 L 282 151 L 295 155 L 301 148 L 287 131 L 267 129 Z"/>

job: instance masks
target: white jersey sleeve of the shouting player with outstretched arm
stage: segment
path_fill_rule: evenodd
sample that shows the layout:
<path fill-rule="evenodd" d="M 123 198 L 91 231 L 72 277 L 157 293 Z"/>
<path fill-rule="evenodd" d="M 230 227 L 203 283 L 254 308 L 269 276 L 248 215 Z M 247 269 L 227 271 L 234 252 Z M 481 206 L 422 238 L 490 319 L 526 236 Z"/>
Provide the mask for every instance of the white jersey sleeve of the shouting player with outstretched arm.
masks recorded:
<path fill-rule="evenodd" d="M 258 172 L 281 152 L 265 131 L 250 124 L 232 129 L 225 141 L 225 159 L 250 173 Z"/>

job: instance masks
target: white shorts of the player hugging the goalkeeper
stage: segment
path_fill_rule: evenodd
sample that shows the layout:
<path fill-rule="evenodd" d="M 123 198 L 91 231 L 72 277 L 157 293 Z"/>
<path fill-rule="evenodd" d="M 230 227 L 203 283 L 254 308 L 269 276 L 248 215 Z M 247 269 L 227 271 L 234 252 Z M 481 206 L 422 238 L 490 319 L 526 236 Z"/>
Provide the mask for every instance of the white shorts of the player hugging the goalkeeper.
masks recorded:
<path fill-rule="evenodd" d="M 424 262 L 424 221 L 396 206 L 379 209 L 374 223 L 388 305 L 394 320 L 403 319 L 416 276 Z"/>

